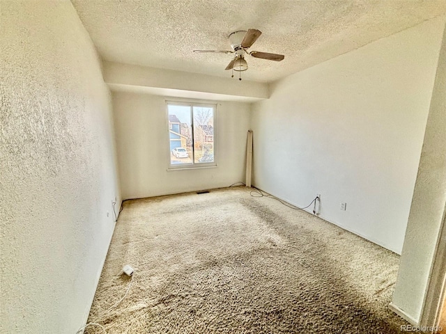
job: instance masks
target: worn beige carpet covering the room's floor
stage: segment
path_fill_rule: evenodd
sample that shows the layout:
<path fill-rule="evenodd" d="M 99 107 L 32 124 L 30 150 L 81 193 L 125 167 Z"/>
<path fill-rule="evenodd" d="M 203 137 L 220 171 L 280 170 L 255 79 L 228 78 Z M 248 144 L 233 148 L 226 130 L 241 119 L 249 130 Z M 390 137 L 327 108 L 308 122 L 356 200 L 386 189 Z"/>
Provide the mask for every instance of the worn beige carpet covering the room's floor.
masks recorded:
<path fill-rule="evenodd" d="M 398 262 L 245 187 L 128 200 L 89 321 L 109 334 L 401 333 L 388 309 Z M 107 310 L 130 283 L 124 264 L 132 287 Z"/>

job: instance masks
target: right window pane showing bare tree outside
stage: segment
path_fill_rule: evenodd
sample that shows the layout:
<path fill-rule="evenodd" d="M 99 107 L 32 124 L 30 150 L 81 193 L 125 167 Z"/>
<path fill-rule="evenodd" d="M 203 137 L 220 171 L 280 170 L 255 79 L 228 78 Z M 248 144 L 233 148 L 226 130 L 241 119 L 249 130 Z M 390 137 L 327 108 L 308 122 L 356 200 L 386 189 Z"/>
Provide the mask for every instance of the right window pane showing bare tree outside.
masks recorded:
<path fill-rule="evenodd" d="M 214 109 L 194 106 L 194 162 L 214 162 Z"/>

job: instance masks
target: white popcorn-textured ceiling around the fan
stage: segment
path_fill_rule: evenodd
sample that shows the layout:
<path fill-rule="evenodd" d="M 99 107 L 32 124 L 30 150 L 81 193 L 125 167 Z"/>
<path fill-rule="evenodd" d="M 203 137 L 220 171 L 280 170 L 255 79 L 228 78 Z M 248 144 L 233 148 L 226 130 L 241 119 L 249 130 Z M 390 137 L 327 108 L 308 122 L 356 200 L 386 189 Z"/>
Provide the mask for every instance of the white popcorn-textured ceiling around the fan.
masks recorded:
<path fill-rule="evenodd" d="M 228 35 L 263 32 L 251 51 L 284 54 L 282 62 L 248 56 L 243 79 L 274 81 L 379 38 L 446 14 L 445 0 L 72 0 L 102 58 L 230 77 Z"/>

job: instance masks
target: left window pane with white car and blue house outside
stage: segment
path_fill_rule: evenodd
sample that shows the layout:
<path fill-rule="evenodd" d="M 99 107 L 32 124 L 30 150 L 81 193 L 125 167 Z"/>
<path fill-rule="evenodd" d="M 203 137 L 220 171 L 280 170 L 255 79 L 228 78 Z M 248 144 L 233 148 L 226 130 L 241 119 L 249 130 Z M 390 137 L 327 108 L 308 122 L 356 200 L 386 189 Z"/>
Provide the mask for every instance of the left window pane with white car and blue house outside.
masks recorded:
<path fill-rule="evenodd" d="M 169 104 L 171 165 L 192 164 L 192 119 L 190 106 Z"/>

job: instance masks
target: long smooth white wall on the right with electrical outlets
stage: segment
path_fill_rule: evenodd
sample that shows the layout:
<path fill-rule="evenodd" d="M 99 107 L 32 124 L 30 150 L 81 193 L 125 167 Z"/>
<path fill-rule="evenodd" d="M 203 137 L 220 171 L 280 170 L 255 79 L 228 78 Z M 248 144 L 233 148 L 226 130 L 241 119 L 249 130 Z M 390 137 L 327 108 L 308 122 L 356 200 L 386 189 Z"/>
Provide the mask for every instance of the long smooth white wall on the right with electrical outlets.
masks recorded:
<path fill-rule="evenodd" d="M 321 217 L 401 253 L 444 26 L 272 84 L 252 111 L 254 185 L 299 206 L 321 193 Z"/>

